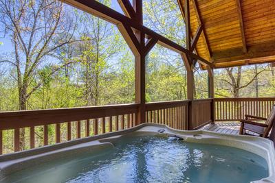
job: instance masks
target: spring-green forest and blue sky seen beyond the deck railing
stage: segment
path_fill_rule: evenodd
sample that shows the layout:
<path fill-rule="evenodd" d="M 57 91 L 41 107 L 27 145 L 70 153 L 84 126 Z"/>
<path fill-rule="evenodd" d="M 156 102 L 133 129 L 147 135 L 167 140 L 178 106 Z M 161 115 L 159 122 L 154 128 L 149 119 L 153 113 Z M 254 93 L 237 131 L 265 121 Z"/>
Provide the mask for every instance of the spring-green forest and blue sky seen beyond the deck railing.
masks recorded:
<path fill-rule="evenodd" d="M 100 3 L 123 13 L 117 1 Z M 185 46 L 177 0 L 143 3 L 144 25 Z M 134 66 L 118 27 L 107 21 L 57 0 L 0 0 L 2 112 L 133 103 Z M 214 70 L 215 97 L 274 97 L 274 86 L 270 64 Z M 199 64 L 194 87 L 196 99 L 208 98 L 208 72 Z M 146 102 L 184 100 L 186 89 L 181 56 L 155 45 L 146 58 Z M 51 144 L 54 126 L 48 129 Z M 28 134 L 21 129 L 21 140 Z M 43 145 L 42 135 L 43 127 L 36 146 Z M 13 149 L 12 136 L 13 130 L 3 134 L 4 153 Z M 21 149 L 28 148 L 24 141 Z"/>

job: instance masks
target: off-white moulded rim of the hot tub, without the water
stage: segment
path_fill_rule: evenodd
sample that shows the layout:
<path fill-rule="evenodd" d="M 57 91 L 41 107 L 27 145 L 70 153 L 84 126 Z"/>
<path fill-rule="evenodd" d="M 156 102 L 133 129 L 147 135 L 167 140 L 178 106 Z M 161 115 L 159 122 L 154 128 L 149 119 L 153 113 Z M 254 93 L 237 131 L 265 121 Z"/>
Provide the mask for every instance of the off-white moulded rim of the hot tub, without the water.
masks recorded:
<path fill-rule="evenodd" d="M 269 176 L 260 182 L 275 182 L 275 148 L 274 143 L 266 138 L 256 136 L 240 136 L 232 134 L 220 134 L 208 131 L 184 131 L 174 130 L 166 125 L 143 123 L 127 130 L 80 138 L 66 143 L 48 145 L 27 151 L 0 156 L 0 180 L 16 171 L 27 169 L 51 160 L 74 156 L 83 152 L 101 151 L 112 148 L 112 141 L 127 135 L 157 135 L 178 136 L 190 143 L 206 143 L 213 145 L 225 145 L 236 147 L 257 154 L 267 161 Z"/>

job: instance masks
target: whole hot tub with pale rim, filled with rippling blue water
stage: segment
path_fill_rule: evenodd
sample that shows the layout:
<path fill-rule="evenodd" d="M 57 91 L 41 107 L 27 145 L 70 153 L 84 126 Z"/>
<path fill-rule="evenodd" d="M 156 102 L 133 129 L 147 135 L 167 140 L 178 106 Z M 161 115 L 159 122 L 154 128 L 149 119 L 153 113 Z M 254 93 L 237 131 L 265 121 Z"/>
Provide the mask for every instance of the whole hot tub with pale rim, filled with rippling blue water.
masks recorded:
<path fill-rule="evenodd" d="M 0 156 L 1 182 L 275 182 L 265 138 L 144 123 Z"/>

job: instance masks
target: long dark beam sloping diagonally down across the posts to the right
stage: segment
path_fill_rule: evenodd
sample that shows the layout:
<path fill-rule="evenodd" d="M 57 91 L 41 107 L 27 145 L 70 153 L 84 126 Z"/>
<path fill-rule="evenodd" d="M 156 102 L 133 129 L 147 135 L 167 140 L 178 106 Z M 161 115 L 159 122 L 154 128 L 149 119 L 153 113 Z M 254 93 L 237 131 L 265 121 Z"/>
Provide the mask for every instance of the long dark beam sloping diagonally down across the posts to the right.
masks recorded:
<path fill-rule="evenodd" d="M 90 14 L 93 14 L 94 16 L 98 16 L 101 19 L 104 19 L 105 21 L 109 21 L 111 23 L 114 23 L 115 25 L 120 25 L 121 23 L 123 25 L 127 25 L 129 27 L 132 27 L 134 29 L 139 30 L 142 32 L 142 34 L 146 34 L 150 36 L 151 38 L 155 38 L 157 43 L 159 45 L 162 45 L 168 49 L 171 49 L 173 51 L 176 51 L 177 53 L 186 53 L 188 56 L 195 58 L 197 60 L 200 60 L 204 64 L 210 64 L 211 62 L 208 62 L 208 60 L 205 60 L 194 53 L 188 51 L 188 49 L 185 49 L 184 47 L 181 47 L 177 43 L 169 40 L 168 38 L 165 38 L 164 36 L 161 36 L 160 34 L 157 34 L 151 29 L 148 29 L 148 27 L 145 27 L 142 25 L 142 21 L 133 21 L 127 16 L 124 16 L 123 14 L 120 14 L 119 12 L 116 12 L 115 10 L 112 10 L 111 8 L 107 7 L 106 5 L 103 5 L 102 3 L 99 3 L 96 0 L 63 0 L 65 3 L 69 3 L 70 5 L 73 5 L 74 7 L 83 10 L 85 12 L 88 12 Z M 137 3 L 142 4 L 141 0 L 136 0 Z M 135 6 L 133 7 L 136 11 L 137 17 L 142 17 L 142 10 Z"/>

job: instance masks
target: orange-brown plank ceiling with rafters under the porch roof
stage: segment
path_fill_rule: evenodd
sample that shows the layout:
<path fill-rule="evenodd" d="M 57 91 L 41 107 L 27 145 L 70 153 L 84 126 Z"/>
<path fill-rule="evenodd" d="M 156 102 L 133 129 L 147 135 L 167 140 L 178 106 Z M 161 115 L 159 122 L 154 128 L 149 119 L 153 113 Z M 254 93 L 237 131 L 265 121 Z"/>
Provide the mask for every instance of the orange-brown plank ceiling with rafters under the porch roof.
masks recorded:
<path fill-rule="evenodd" d="M 214 68 L 275 62 L 274 0 L 190 0 L 190 25 L 192 36 L 203 27 L 195 51 Z"/>

